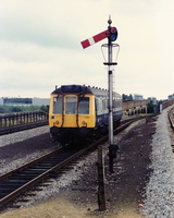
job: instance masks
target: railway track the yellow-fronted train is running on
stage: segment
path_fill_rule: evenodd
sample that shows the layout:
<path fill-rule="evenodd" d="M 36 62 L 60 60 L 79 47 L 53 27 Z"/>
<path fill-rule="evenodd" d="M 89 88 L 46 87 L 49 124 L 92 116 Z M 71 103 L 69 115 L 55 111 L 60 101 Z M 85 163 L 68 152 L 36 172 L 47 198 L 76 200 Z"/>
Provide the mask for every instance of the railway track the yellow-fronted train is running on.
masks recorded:
<path fill-rule="evenodd" d="M 123 131 L 129 124 L 138 119 L 126 121 L 122 126 L 117 128 L 114 134 Z M 0 208 L 3 208 L 9 202 L 15 199 L 26 190 L 37 183 L 46 180 L 49 177 L 53 177 L 59 173 L 60 170 L 65 168 L 77 158 L 90 153 L 98 145 L 108 141 L 108 135 L 101 137 L 95 143 L 88 145 L 80 150 L 60 148 L 39 159 L 26 164 L 25 166 L 15 169 L 9 173 L 0 177 Z"/>

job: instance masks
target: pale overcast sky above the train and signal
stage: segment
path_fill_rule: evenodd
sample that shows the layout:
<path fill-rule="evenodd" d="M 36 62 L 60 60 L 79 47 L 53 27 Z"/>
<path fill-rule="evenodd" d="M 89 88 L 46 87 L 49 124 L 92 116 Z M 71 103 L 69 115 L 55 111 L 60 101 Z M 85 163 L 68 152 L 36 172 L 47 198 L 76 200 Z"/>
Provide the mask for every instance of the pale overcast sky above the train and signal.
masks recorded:
<path fill-rule="evenodd" d="M 101 45 L 119 32 L 115 89 L 165 99 L 174 93 L 173 0 L 0 0 L 0 97 L 46 97 L 55 85 L 108 88 Z M 113 57 L 114 60 L 114 57 Z"/>

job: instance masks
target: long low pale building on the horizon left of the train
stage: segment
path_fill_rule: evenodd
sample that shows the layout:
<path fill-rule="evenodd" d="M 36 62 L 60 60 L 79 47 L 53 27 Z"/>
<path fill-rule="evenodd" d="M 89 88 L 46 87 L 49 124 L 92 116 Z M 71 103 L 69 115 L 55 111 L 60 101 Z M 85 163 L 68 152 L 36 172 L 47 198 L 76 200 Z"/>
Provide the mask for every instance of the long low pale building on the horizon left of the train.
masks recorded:
<path fill-rule="evenodd" d="M 0 105 L 4 106 L 47 106 L 49 98 L 8 98 L 0 99 Z"/>

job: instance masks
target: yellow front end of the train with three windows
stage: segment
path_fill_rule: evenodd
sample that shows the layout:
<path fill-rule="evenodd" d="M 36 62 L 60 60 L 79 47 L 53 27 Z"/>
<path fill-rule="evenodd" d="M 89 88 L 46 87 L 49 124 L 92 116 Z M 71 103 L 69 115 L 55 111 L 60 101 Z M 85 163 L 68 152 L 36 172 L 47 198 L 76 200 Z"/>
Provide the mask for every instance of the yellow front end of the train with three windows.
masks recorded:
<path fill-rule="evenodd" d="M 86 138 L 96 125 L 95 96 L 86 86 L 64 85 L 52 92 L 50 134 L 62 145 Z"/>

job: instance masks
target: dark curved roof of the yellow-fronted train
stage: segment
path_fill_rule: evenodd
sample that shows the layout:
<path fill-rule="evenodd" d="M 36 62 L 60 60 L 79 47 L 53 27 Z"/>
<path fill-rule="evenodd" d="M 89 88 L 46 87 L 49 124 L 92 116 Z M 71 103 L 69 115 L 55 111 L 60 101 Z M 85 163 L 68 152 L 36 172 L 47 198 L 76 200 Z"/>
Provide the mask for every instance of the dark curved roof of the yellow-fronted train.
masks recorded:
<path fill-rule="evenodd" d="M 62 85 L 59 88 L 55 88 L 51 95 L 53 94 L 65 94 L 65 93 L 72 93 L 72 94 L 92 94 L 95 96 L 108 96 L 108 90 L 103 88 L 98 87 L 91 87 L 91 86 L 85 86 L 85 85 Z"/>

